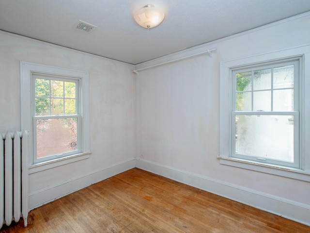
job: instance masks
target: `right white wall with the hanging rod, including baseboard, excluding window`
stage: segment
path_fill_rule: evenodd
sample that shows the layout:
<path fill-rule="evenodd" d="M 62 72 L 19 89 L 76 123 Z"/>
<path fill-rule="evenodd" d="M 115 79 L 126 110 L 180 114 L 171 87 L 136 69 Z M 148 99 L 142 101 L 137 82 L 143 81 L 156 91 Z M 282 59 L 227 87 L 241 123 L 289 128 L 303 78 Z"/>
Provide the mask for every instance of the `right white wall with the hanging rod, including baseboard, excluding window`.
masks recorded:
<path fill-rule="evenodd" d="M 305 14 L 190 49 L 196 53 L 217 48 L 212 58 L 198 55 L 139 71 L 137 166 L 310 225 L 309 182 L 221 165 L 217 159 L 219 63 L 309 42 L 310 14 Z M 188 54 L 172 54 L 136 69 Z M 249 196 L 242 197 L 240 190 Z M 255 200 L 255 195 L 262 199 Z M 266 198 L 275 201 L 265 205 Z M 284 211 L 276 206 L 281 203 L 287 204 Z"/>

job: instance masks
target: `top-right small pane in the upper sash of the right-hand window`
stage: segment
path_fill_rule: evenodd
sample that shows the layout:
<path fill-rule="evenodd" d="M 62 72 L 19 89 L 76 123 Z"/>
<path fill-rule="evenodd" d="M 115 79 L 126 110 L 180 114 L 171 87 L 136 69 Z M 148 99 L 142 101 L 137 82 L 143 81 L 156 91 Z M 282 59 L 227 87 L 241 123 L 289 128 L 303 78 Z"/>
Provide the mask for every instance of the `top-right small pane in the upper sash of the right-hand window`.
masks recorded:
<path fill-rule="evenodd" d="M 274 68 L 273 73 L 274 89 L 294 87 L 294 65 Z"/>

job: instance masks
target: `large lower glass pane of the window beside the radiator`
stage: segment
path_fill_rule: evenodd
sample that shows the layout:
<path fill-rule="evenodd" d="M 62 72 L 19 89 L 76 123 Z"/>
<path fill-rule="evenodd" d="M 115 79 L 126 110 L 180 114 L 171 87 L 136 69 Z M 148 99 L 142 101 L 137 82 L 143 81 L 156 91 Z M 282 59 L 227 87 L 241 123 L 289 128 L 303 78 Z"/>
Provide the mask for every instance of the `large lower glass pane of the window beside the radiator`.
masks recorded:
<path fill-rule="evenodd" d="M 37 120 L 37 158 L 77 150 L 77 118 Z"/>

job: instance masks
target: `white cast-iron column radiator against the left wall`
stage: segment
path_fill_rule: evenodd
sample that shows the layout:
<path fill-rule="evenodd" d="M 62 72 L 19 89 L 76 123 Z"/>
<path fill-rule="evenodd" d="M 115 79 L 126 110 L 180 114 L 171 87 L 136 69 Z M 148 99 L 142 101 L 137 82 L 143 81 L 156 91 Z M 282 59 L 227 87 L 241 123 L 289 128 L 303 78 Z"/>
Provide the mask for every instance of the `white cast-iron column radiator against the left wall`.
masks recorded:
<path fill-rule="evenodd" d="M 0 134 L 0 229 L 20 217 L 27 226 L 29 132 Z"/>

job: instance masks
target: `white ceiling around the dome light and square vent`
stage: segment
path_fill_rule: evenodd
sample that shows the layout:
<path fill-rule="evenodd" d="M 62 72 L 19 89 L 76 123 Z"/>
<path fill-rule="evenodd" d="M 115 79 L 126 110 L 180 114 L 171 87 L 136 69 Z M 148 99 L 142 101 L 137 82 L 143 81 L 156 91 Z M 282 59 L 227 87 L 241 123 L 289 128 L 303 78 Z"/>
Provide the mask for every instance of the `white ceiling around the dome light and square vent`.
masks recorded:
<path fill-rule="evenodd" d="M 147 4 L 166 13 L 150 31 L 133 19 Z M 310 0 L 0 0 L 0 30 L 139 64 L 307 11 Z"/>

